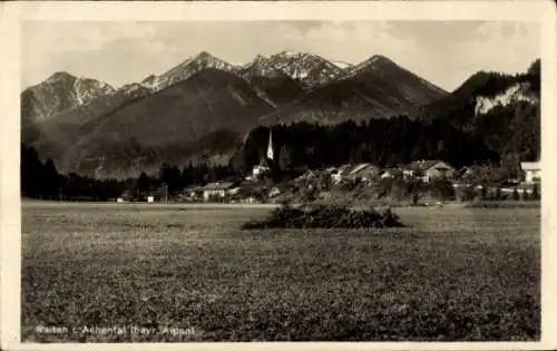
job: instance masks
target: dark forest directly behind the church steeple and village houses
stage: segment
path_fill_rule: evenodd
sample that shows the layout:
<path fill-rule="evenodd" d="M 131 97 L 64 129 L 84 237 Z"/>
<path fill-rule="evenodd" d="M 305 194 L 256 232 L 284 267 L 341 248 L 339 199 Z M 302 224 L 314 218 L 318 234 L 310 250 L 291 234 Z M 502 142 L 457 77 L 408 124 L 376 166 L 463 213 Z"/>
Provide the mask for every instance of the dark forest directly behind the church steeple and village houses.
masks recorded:
<path fill-rule="evenodd" d="M 422 123 L 407 116 L 345 121 L 334 126 L 309 123 L 274 126 L 275 166 L 280 169 L 320 168 L 369 162 L 383 167 L 417 159 L 443 159 L 455 166 L 498 163 L 500 155 L 473 134 L 438 120 Z M 266 150 L 270 129 L 253 129 L 235 156 L 236 168 L 247 170 Z"/>

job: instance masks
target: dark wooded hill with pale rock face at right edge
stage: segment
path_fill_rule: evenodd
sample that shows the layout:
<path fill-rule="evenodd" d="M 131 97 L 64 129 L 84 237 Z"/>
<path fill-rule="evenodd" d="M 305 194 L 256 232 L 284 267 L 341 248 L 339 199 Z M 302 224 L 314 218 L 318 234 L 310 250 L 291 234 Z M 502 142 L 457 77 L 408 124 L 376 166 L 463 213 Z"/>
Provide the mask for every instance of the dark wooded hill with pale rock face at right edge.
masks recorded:
<path fill-rule="evenodd" d="M 444 121 L 478 136 L 504 158 L 539 157 L 540 60 L 510 76 L 480 71 L 450 95 L 426 105 L 420 119 Z"/>

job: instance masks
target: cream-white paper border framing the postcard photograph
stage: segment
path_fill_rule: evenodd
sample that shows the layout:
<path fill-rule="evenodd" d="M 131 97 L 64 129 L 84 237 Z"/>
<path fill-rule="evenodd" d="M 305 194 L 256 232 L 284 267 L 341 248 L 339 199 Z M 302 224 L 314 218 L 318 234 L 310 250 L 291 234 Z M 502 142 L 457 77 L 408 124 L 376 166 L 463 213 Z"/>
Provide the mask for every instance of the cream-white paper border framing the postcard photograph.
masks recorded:
<path fill-rule="evenodd" d="M 208 21 L 208 20 L 512 20 L 541 23 L 543 183 L 543 333 L 540 342 L 309 342 L 309 343 L 123 343 L 33 344 L 19 342 L 20 198 L 19 92 L 20 33 L 23 20 Z M 556 8 L 553 1 L 346 1 L 346 2 L 3 2 L 0 3 L 0 233 L 1 349 L 3 350 L 549 350 L 557 349 L 557 187 L 553 167 L 556 145 Z M 553 235 L 551 235 L 553 234 Z"/>

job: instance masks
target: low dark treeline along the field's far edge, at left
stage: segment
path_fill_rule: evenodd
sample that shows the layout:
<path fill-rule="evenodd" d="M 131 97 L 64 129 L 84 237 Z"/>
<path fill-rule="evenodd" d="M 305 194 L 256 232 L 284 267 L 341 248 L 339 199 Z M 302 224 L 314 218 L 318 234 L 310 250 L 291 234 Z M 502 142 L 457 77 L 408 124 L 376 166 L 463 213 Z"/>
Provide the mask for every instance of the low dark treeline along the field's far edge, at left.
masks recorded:
<path fill-rule="evenodd" d="M 233 178 L 228 166 L 188 164 L 182 169 L 163 164 L 157 175 L 143 173 L 137 178 L 95 179 L 76 173 L 58 173 L 51 159 L 41 162 L 33 147 L 21 145 L 21 195 L 42 199 L 109 201 L 128 192 L 133 198 L 140 198 L 157 188 L 165 187 L 168 196 L 187 186 Z"/>

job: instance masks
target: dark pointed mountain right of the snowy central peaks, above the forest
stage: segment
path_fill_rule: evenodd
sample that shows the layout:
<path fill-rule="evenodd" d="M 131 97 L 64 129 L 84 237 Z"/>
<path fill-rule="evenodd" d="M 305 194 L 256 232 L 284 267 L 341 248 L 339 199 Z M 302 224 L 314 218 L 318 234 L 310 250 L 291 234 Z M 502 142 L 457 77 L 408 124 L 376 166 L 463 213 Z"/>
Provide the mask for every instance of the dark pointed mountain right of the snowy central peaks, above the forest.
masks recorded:
<path fill-rule="evenodd" d="M 282 106 L 262 124 L 289 121 L 340 123 L 413 114 L 447 92 L 393 61 L 374 56 L 349 68 L 345 77 L 317 86 L 301 99 Z"/>

